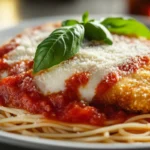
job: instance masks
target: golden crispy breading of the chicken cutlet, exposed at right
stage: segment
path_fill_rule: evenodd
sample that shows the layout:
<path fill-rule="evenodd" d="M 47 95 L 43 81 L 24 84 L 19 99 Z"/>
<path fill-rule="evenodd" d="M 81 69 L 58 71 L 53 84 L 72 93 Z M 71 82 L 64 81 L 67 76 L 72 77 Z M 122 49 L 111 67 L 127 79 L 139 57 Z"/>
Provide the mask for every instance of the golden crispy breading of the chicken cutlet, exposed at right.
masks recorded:
<path fill-rule="evenodd" d="M 105 103 L 133 112 L 150 112 L 150 65 L 123 77 L 102 96 Z"/>

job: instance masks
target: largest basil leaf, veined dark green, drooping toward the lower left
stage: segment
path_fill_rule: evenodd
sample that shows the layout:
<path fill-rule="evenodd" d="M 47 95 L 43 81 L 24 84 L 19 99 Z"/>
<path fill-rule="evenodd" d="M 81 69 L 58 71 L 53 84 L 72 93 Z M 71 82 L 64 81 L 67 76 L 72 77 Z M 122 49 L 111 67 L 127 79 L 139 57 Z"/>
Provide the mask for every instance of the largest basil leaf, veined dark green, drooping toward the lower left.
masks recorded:
<path fill-rule="evenodd" d="M 33 72 L 50 68 L 74 56 L 79 50 L 83 37 L 84 27 L 78 24 L 53 31 L 37 47 Z"/>

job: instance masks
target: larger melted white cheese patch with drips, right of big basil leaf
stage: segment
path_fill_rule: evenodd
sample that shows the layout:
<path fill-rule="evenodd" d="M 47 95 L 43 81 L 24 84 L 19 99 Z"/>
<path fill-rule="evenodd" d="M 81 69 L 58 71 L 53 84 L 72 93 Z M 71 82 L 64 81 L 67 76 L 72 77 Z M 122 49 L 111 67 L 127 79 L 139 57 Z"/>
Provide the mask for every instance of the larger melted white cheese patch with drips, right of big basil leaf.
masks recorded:
<path fill-rule="evenodd" d="M 66 60 L 34 77 L 36 85 L 45 95 L 65 90 L 65 81 L 75 73 L 89 72 L 90 79 L 79 88 L 81 98 L 91 101 L 100 81 L 117 66 L 130 58 L 148 55 L 150 48 L 138 39 L 114 35 L 113 45 L 89 46 L 86 43 L 73 59 Z"/>

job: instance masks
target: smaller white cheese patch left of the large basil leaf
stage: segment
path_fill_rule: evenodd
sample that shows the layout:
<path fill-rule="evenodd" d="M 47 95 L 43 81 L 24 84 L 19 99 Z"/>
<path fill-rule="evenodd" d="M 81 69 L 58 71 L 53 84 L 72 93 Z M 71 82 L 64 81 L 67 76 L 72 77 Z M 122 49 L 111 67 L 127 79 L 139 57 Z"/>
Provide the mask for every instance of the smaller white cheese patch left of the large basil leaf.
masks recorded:
<path fill-rule="evenodd" d="M 4 62 L 13 64 L 21 60 L 33 60 L 36 48 L 40 42 L 49 36 L 55 29 L 52 25 L 42 26 L 42 29 L 27 30 L 15 42 L 19 45 L 13 51 L 4 55 Z"/>

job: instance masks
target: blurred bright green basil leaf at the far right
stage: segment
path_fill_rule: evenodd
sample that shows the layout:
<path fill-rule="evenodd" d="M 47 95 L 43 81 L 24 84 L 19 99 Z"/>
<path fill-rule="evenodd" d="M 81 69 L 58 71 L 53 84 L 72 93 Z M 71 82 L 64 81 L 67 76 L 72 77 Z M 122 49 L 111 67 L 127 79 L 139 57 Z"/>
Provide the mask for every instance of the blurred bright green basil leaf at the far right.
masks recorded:
<path fill-rule="evenodd" d="M 101 24 L 112 33 L 150 38 L 150 30 L 144 24 L 132 18 L 110 17 L 104 19 Z"/>

